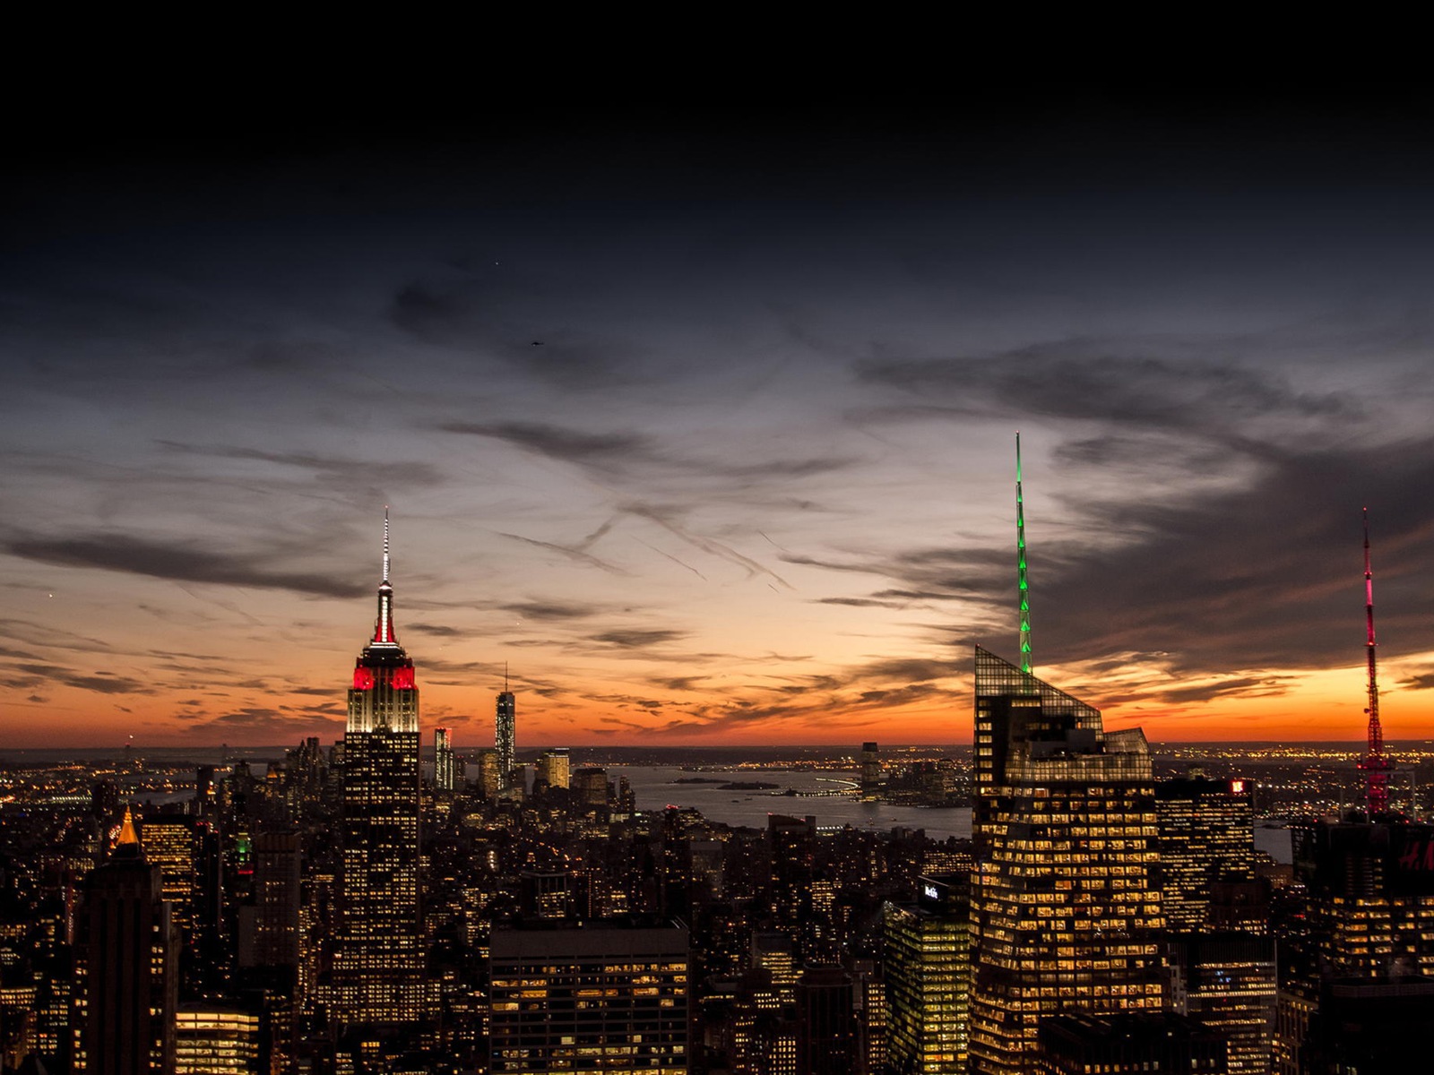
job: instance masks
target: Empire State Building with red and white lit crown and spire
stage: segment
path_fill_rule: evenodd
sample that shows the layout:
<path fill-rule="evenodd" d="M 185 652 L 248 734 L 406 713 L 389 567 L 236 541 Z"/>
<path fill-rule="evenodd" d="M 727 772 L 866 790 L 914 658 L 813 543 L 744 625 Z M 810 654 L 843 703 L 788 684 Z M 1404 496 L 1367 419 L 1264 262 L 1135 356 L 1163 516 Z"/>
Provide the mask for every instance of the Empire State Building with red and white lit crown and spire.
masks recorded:
<path fill-rule="evenodd" d="M 419 774 L 419 688 L 393 629 L 384 512 L 379 615 L 354 665 L 344 731 L 331 999 L 347 1023 L 423 1015 Z"/>

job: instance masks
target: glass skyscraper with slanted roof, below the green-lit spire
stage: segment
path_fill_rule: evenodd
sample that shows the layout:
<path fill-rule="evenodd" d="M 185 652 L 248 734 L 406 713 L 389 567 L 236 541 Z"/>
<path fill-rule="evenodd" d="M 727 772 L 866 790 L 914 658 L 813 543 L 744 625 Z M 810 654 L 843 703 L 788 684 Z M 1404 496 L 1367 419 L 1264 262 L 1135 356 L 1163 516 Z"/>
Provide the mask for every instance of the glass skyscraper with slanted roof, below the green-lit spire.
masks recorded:
<path fill-rule="evenodd" d="M 981 648 L 975 688 L 972 1071 L 1021 1075 L 1045 1016 L 1162 1006 L 1154 783 L 1139 730 Z"/>

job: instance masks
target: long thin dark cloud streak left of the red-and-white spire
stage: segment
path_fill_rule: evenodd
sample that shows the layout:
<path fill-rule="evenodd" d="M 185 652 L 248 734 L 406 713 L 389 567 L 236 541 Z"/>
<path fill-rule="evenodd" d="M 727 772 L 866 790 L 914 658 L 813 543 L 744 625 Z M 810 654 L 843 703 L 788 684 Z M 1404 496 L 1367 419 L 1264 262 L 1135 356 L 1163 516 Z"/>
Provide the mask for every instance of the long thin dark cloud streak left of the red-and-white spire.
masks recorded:
<path fill-rule="evenodd" d="M 79 538 L 9 538 L 0 542 L 11 556 L 65 568 L 96 568 L 174 582 L 217 586 L 285 589 L 326 598 L 356 598 L 367 591 L 353 582 L 324 575 L 272 570 L 270 553 L 221 553 L 172 542 L 146 540 L 123 533 Z"/>

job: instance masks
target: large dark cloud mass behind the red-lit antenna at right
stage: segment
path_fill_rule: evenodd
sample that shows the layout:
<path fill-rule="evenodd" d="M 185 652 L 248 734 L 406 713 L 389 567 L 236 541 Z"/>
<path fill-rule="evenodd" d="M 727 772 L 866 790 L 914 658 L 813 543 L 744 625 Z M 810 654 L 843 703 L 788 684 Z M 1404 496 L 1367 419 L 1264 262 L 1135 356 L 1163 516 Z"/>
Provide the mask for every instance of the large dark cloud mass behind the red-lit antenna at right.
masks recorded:
<path fill-rule="evenodd" d="M 1236 492 L 1087 505 L 1081 529 L 1106 540 L 1030 549 L 1037 664 L 1146 654 L 1174 675 L 1358 664 L 1365 506 L 1381 646 L 1434 649 L 1434 441 L 1421 441 L 1311 446 L 1272 454 Z M 1008 585 L 989 595 L 994 611 L 1014 609 L 1014 575 Z"/>

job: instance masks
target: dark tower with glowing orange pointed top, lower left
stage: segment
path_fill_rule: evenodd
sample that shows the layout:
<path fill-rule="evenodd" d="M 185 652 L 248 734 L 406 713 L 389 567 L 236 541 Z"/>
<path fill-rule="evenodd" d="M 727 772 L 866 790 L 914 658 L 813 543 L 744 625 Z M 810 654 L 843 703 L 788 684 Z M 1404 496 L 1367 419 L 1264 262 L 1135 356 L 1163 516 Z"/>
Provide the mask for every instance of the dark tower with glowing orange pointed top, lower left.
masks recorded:
<path fill-rule="evenodd" d="M 90 871 L 76 945 L 77 1041 L 70 1071 L 174 1075 L 176 945 L 162 871 L 125 810 L 109 861 Z"/>

